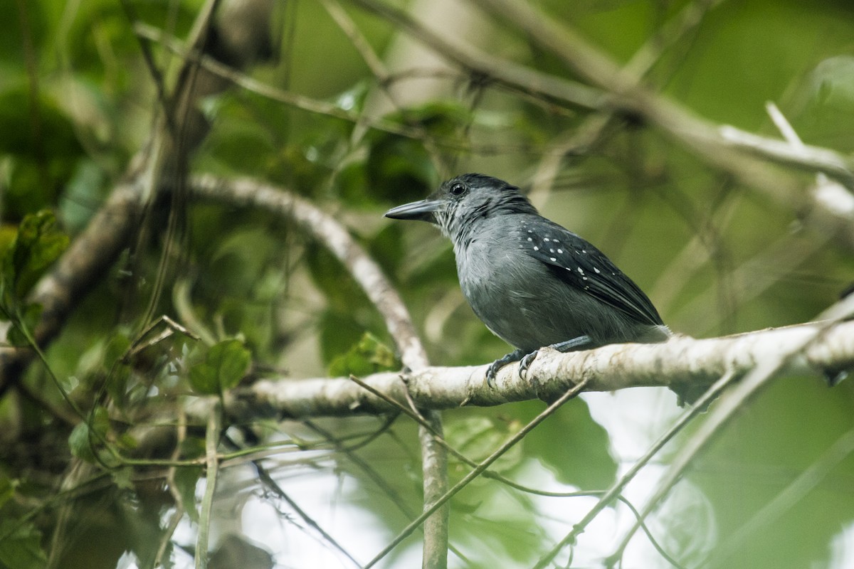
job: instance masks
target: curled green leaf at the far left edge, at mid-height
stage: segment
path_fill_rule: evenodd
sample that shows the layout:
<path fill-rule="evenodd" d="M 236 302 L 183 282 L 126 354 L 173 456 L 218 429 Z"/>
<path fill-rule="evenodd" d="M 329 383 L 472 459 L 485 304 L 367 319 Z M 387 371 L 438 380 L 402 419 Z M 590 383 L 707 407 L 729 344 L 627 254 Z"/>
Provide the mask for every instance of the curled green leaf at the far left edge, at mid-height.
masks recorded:
<path fill-rule="evenodd" d="M 51 263 L 68 247 L 68 236 L 56 229 L 49 211 L 27 215 L 3 258 L 4 297 L 22 299 Z M 9 303 L 8 297 L 3 299 Z"/>

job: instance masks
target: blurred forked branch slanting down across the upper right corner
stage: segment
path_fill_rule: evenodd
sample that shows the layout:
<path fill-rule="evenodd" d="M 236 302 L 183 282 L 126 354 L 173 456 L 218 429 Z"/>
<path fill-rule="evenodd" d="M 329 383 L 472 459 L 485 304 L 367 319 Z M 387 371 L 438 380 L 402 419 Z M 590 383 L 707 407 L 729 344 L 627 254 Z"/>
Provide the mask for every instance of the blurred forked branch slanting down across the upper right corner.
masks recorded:
<path fill-rule="evenodd" d="M 553 52 L 592 86 L 484 53 L 461 44 L 459 38 L 454 38 L 451 44 L 447 38 L 437 36 L 411 16 L 380 0 L 354 0 L 354 3 L 401 27 L 448 61 L 481 78 L 570 106 L 619 111 L 644 119 L 680 142 L 699 160 L 730 173 L 749 187 L 761 190 L 770 200 L 784 206 L 794 204 L 798 209 L 810 206 L 817 213 L 816 228 L 833 233 L 843 229 L 841 235 L 845 244 L 854 248 L 854 196 L 851 192 L 838 184 L 822 186 L 821 191 L 807 192 L 797 178 L 773 167 L 773 164 L 778 164 L 823 172 L 851 189 L 854 188 L 854 160 L 850 157 L 828 148 L 810 146 L 793 152 L 785 142 L 777 139 L 712 123 L 678 102 L 646 88 L 637 77 L 623 72 L 615 61 L 576 32 L 555 22 L 529 3 L 470 1 L 512 22 L 513 26 L 526 33 L 526 37 Z"/>

